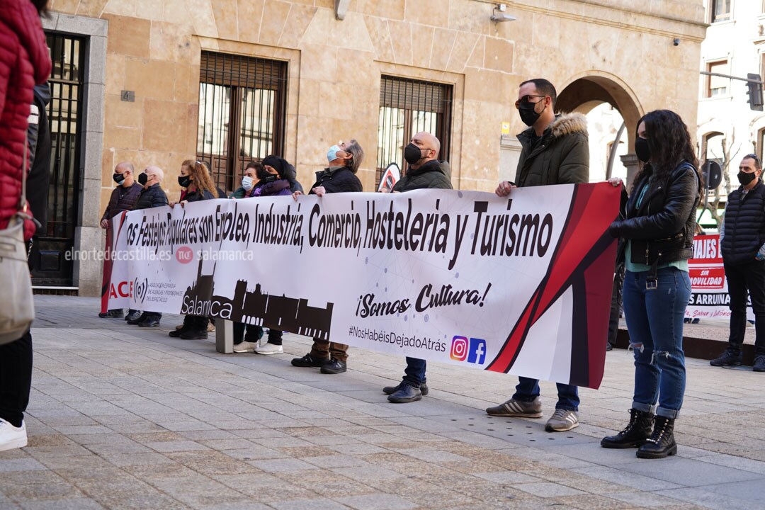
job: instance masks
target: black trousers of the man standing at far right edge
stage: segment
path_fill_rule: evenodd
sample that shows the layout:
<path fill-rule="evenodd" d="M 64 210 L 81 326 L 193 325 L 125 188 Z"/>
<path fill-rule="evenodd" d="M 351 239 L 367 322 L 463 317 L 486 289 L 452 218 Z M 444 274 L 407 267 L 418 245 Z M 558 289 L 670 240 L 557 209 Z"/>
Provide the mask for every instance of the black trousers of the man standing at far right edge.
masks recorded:
<path fill-rule="evenodd" d="M 731 296 L 731 335 L 728 350 L 741 352 L 747 330 L 747 293 L 754 310 L 754 352 L 765 355 L 765 261 L 752 260 L 746 264 L 725 264 L 728 294 Z"/>

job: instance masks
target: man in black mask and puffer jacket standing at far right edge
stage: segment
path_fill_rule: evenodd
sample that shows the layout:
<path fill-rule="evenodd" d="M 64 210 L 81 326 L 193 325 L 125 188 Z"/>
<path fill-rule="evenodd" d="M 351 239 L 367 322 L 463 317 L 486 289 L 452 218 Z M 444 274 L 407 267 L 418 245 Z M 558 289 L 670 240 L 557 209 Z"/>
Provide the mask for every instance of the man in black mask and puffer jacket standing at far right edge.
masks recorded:
<path fill-rule="evenodd" d="M 738 165 L 741 187 L 728 196 L 720 228 L 720 245 L 728 294 L 731 333 L 728 349 L 712 366 L 741 365 L 741 345 L 747 330 L 747 292 L 754 310 L 754 372 L 765 372 L 765 184 L 757 154 Z"/>

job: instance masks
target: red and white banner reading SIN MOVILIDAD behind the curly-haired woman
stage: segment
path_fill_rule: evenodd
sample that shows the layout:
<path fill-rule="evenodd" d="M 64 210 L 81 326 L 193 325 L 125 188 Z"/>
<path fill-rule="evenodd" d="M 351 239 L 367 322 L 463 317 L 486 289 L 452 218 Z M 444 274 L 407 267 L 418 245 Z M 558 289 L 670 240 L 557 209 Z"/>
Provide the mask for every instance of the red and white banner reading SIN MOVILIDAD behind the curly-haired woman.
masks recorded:
<path fill-rule="evenodd" d="M 731 297 L 720 250 L 717 234 L 693 237 L 693 258 L 688 261 L 691 299 L 685 308 L 686 318 L 730 320 Z M 754 320 L 751 302 L 747 303 L 747 319 Z"/>

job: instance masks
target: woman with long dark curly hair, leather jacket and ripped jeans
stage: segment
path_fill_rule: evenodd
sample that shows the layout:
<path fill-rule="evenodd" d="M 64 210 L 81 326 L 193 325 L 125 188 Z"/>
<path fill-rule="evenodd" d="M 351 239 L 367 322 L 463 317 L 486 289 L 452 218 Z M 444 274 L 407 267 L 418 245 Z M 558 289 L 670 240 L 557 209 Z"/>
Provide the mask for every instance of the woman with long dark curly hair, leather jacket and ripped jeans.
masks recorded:
<path fill-rule="evenodd" d="M 649 112 L 637 125 L 635 152 L 643 167 L 620 219 L 609 228 L 624 239 L 623 306 L 635 357 L 630 423 L 605 448 L 638 447 L 642 459 L 677 453 L 673 430 L 685 393 L 682 324 L 691 297 L 696 206 L 702 190 L 691 135 L 679 115 Z M 609 181 L 619 186 L 619 179 Z M 654 406 L 658 401 L 656 416 Z"/>

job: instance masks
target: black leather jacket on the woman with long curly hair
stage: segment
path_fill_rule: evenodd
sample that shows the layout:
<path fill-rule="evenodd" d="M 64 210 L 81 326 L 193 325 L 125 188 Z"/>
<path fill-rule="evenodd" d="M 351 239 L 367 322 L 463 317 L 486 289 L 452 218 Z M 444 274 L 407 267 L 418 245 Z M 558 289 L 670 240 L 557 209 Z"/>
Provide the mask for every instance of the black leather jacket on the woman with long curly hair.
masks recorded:
<path fill-rule="evenodd" d="M 632 261 L 637 264 L 660 265 L 691 258 L 702 184 L 698 172 L 692 164 L 683 163 L 666 182 L 649 181 L 652 174 L 651 167 L 646 166 L 627 200 L 625 219 L 611 223 L 608 231 L 614 237 L 632 241 Z M 649 188 L 638 207 L 637 198 L 646 182 Z"/>

